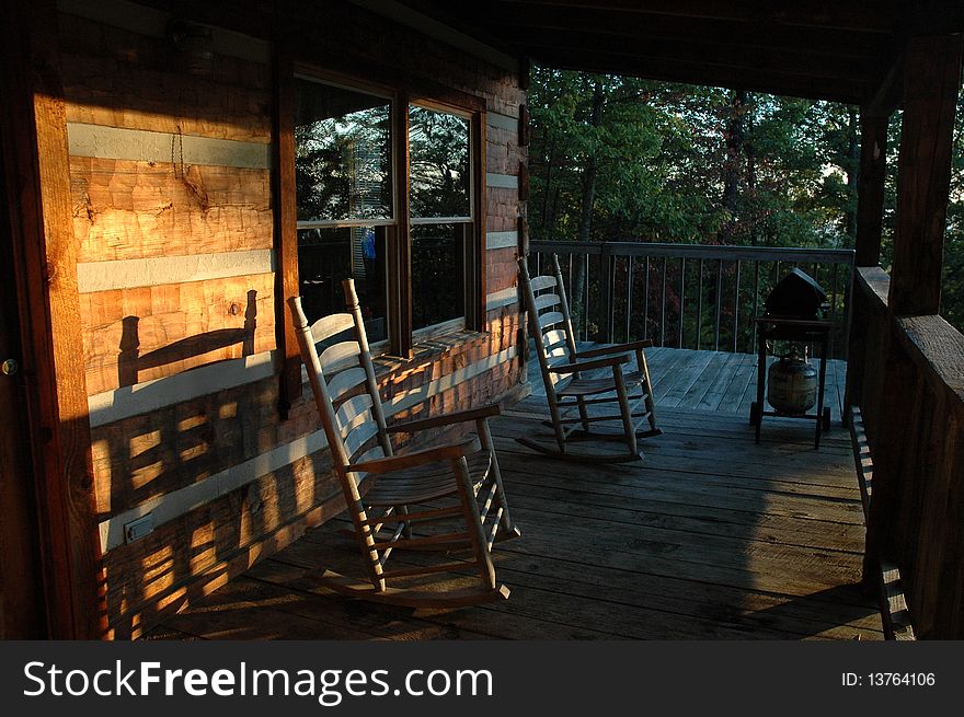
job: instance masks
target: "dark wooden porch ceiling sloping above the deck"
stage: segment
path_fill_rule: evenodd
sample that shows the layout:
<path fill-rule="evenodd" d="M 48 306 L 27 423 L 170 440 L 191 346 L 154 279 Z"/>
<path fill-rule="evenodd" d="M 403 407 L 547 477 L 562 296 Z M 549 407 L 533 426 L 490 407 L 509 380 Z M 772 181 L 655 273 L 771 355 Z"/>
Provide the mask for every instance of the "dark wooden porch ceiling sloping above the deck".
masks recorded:
<path fill-rule="evenodd" d="M 563 69 L 872 102 L 910 35 L 964 31 L 954 0 L 403 0 Z"/>

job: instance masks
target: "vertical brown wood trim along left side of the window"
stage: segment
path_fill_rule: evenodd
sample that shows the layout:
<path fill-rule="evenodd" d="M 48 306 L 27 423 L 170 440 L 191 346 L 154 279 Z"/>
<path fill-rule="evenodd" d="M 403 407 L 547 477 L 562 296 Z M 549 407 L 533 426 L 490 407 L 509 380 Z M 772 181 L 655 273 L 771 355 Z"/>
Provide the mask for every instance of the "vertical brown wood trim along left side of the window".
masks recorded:
<path fill-rule="evenodd" d="M 280 349 L 280 410 L 301 395 L 301 359 L 288 299 L 298 289 L 298 213 L 295 197 L 295 67 L 291 56 L 275 44 L 275 122 L 274 122 L 274 201 L 275 251 L 275 331 Z"/>

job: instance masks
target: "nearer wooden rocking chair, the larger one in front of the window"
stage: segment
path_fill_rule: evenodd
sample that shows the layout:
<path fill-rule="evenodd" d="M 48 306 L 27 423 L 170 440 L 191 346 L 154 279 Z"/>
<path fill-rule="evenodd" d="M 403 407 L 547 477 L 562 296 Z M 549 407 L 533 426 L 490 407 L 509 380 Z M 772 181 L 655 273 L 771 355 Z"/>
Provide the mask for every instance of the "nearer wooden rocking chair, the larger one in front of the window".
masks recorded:
<path fill-rule="evenodd" d="M 368 573 L 367 580 L 358 580 L 326 570 L 321 585 L 342 594 L 416 608 L 507 599 L 508 588 L 495 580 L 491 548 L 497 540 L 515 537 L 519 531 L 509 519 L 489 431 L 487 419 L 500 413 L 498 406 L 387 427 L 352 279 L 345 280 L 344 289 L 351 313 L 325 316 L 312 326 L 300 297 L 289 299 L 301 356 Z M 320 355 L 319 343 L 323 343 Z M 474 421 L 477 436 L 399 455 L 389 439 L 390 432 L 462 421 Z M 415 527 L 435 530 L 416 536 Z M 389 570 L 389 555 L 402 548 L 471 548 L 473 559 Z M 475 585 L 468 588 L 389 585 L 466 568 L 478 573 Z"/>

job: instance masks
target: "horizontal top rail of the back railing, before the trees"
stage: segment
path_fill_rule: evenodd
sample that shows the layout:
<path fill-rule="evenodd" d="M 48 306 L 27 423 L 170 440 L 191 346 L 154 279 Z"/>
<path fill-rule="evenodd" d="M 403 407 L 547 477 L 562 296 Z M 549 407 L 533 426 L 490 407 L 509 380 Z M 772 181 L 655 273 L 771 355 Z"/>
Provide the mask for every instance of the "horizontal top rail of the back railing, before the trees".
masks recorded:
<path fill-rule="evenodd" d="M 556 254 L 610 256 L 667 256 L 696 259 L 801 262 L 819 264 L 853 264 L 850 248 L 805 248 L 799 246 L 733 246 L 728 244 L 665 244 L 651 242 L 569 242 L 538 241 L 530 251 Z"/>

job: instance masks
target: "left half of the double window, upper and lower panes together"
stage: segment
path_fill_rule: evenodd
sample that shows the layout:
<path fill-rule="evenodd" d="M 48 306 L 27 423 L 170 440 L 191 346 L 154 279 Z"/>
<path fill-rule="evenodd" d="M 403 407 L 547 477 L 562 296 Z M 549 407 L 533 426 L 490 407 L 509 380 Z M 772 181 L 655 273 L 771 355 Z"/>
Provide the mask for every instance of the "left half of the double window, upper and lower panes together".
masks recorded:
<path fill-rule="evenodd" d="M 296 80 L 298 290 L 310 320 L 345 309 L 353 277 L 372 343 L 388 338 L 386 228 L 393 223 L 391 100 Z"/>

